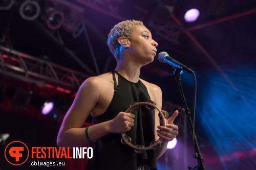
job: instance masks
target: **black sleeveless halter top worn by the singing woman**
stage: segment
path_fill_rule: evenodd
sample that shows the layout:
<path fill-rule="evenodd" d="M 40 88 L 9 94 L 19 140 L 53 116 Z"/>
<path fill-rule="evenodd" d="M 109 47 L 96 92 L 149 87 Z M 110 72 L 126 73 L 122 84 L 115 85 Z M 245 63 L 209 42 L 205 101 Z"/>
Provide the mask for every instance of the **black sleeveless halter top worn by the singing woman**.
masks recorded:
<path fill-rule="evenodd" d="M 115 72 L 118 75 L 116 85 Z M 130 82 L 112 71 L 114 80 L 114 96 L 105 113 L 93 118 L 93 125 L 113 119 L 119 112 L 126 111 L 133 102 L 146 102 L 150 100 L 146 86 L 139 80 Z M 154 110 L 141 106 L 139 111 L 132 112 L 135 115 L 134 127 L 125 134 L 132 138 L 132 143 L 149 146 L 155 140 Z M 141 164 L 157 169 L 155 150 L 147 150 L 142 154 L 134 151 L 134 148 L 121 143 L 121 134 L 111 133 L 91 143 L 93 158 L 88 160 L 85 170 L 137 170 Z"/>

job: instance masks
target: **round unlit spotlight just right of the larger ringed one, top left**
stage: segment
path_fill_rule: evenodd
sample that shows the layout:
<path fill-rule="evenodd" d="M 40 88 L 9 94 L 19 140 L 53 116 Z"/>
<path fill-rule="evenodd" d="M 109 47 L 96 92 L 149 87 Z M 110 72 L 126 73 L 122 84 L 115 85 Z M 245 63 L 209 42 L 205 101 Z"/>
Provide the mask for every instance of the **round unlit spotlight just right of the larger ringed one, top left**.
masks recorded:
<path fill-rule="evenodd" d="M 46 25 L 52 30 L 60 28 L 64 20 L 64 15 L 62 12 L 50 8 L 46 12 Z"/>

